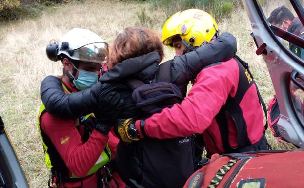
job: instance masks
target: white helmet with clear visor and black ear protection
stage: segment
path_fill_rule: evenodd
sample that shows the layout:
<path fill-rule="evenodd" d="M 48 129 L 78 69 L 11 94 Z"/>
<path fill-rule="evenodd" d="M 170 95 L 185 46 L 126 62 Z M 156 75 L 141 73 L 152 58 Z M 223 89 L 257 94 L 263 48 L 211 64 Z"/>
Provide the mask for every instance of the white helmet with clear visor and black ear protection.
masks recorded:
<path fill-rule="evenodd" d="M 88 63 L 102 63 L 108 56 L 108 44 L 101 37 L 87 29 L 74 28 L 61 39 L 46 47 L 46 54 L 50 60 L 61 60 L 66 55 L 72 60 Z"/>

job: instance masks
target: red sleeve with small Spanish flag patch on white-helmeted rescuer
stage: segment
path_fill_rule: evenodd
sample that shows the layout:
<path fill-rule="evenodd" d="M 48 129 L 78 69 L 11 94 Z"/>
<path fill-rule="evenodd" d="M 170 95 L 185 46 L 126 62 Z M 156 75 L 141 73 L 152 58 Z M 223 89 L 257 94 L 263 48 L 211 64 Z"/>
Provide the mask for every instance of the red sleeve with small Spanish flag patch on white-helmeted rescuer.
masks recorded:
<path fill-rule="evenodd" d="M 63 119 L 44 113 L 41 128 L 51 139 L 69 171 L 84 177 L 98 160 L 108 137 L 93 130 L 87 142 L 81 136 L 71 119 Z"/>

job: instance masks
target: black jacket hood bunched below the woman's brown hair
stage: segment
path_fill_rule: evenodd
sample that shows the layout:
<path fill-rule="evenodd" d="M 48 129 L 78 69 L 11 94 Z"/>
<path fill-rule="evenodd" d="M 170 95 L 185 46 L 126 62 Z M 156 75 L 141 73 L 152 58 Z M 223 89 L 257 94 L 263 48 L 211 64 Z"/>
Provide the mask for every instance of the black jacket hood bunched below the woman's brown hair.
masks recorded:
<path fill-rule="evenodd" d="M 100 77 L 99 81 L 105 83 L 132 77 L 144 83 L 150 83 L 155 79 L 159 63 L 160 55 L 158 52 L 150 52 L 142 56 L 129 58 L 108 70 Z"/>

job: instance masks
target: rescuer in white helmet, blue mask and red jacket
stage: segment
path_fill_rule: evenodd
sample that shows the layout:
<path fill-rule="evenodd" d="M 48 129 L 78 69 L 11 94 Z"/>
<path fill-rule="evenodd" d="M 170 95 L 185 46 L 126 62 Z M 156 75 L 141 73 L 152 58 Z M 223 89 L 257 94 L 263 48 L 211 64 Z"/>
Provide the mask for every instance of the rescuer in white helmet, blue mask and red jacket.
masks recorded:
<path fill-rule="evenodd" d="M 62 88 L 65 93 L 72 95 L 97 82 L 101 63 L 108 57 L 108 44 L 89 30 L 74 28 L 62 37 L 59 45 L 57 42 L 49 44 L 46 53 L 53 61 L 61 60 Z M 123 100 L 114 91 L 100 97 L 102 110 L 91 109 L 94 114 L 75 119 L 51 115 L 41 105 L 38 128 L 46 166 L 51 169 L 49 187 L 115 186 L 105 165 L 111 160 L 108 133 L 117 117 L 110 113 L 111 110 L 107 112 L 103 109 L 120 110 Z"/>

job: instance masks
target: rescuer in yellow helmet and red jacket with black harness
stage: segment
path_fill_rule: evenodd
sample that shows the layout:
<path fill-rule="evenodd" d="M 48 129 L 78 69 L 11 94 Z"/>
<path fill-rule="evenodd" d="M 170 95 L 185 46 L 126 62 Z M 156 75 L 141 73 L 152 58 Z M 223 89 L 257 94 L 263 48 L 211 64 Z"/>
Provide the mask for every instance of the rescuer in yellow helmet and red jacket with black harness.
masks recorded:
<path fill-rule="evenodd" d="M 217 23 L 211 15 L 189 9 L 166 21 L 162 42 L 174 47 L 176 55 L 181 56 L 212 42 L 218 33 Z M 268 143 L 260 102 L 263 104 L 263 99 L 247 63 L 235 56 L 205 67 L 181 104 L 165 108 L 146 120 L 120 121 L 118 126 L 126 130 L 120 132 L 125 142 L 198 133 L 203 134 L 209 155 L 266 150 Z"/>

